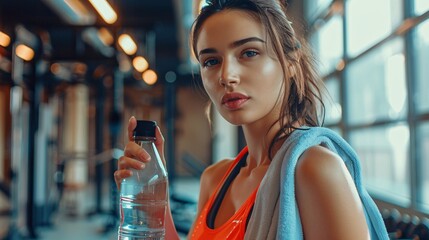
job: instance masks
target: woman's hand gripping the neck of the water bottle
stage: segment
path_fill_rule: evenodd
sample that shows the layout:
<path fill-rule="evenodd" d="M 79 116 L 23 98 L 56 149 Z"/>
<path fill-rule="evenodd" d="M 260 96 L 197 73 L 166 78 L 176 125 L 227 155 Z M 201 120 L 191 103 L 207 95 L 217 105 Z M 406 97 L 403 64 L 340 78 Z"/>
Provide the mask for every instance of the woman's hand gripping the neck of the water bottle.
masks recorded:
<path fill-rule="evenodd" d="M 128 122 L 128 143 L 124 148 L 124 156 L 119 158 L 118 169 L 115 171 L 115 182 L 118 189 L 121 187 L 121 181 L 124 178 L 130 177 L 132 171 L 130 168 L 141 170 L 145 168 L 145 163 L 150 161 L 150 155 L 134 142 L 133 131 L 137 126 L 135 117 L 131 117 Z M 158 149 L 159 155 L 165 166 L 164 159 L 164 137 L 162 136 L 159 127 L 156 127 L 156 142 L 155 146 Z"/>

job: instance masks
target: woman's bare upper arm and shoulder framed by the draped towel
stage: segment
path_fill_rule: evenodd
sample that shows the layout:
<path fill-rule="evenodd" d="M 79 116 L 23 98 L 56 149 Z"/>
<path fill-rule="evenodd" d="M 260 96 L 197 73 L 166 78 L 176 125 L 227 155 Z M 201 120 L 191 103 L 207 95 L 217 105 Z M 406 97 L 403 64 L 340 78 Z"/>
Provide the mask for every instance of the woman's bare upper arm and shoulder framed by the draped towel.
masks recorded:
<path fill-rule="evenodd" d="M 312 147 L 300 157 L 295 177 L 305 239 L 370 238 L 356 187 L 339 156 Z"/>

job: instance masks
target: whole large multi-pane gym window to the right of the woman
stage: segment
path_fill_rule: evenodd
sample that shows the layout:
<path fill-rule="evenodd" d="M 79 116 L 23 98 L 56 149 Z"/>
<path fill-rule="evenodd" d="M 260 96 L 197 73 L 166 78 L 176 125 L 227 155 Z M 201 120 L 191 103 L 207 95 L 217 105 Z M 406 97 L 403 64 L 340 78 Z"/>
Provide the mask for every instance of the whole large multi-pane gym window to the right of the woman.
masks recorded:
<path fill-rule="evenodd" d="M 326 125 L 356 150 L 372 197 L 429 214 L 429 0 L 335 0 L 319 11 L 328 14 L 307 22 L 331 96 Z"/>

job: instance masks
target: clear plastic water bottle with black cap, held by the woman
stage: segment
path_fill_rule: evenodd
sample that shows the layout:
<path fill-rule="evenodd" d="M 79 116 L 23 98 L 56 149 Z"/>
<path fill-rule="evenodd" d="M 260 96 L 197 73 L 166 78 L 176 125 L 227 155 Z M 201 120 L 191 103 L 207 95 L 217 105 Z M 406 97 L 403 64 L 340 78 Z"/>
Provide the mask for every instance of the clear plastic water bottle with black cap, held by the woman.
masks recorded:
<path fill-rule="evenodd" d="M 118 239 L 158 240 L 165 238 L 165 214 L 168 200 L 167 171 L 155 147 L 154 121 L 137 121 L 134 141 L 151 156 L 143 170 L 121 182 L 120 225 Z"/>

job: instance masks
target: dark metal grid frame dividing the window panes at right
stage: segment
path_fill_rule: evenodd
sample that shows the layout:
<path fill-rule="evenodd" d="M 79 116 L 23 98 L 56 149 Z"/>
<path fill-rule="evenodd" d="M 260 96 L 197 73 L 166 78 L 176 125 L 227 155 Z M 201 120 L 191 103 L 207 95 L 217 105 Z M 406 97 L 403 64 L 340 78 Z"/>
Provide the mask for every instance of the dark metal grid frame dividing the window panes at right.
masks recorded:
<path fill-rule="evenodd" d="M 308 4 L 311 0 L 306 0 L 305 2 Z M 420 23 L 424 21 L 429 21 L 429 10 L 423 12 L 420 15 L 416 15 L 416 11 L 414 9 L 415 0 L 402 0 L 401 4 L 403 6 L 403 19 L 399 26 L 380 41 L 374 43 L 372 46 L 369 46 L 363 52 L 357 54 L 356 56 L 349 57 L 347 53 L 347 23 L 346 23 L 346 7 L 347 0 L 334 0 L 331 2 L 326 9 L 321 9 L 317 16 L 311 16 L 311 18 L 305 19 L 309 24 L 309 31 L 307 32 L 308 36 L 311 34 L 316 34 L 315 32 L 320 29 L 320 24 L 323 22 L 327 22 L 327 20 L 332 16 L 332 14 L 342 14 L 343 20 L 343 59 L 342 64 L 343 68 L 333 69 L 331 72 L 322 76 L 324 80 L 337 78 L 340 84 L 340 104 L 342 106 L 342 116 L 338 122 L 330 123 L 326 125 L 329 128 L 339 129 L 345 138 L 346 141 L 350 140 L 350 132 L 353 131 L 361 131 L 369 128 L 377 127 L 377 126 L 387 126 L 392 124 L 397 124 L 400 122 L 404 122 L 404 119 L 381 119 L 371 123 L 364 124 L 350 124 L 349 109 L 345 108 L 347 106 L 347 71 L 348 67 L 354 61 L 361 59 L 363 56 L 366 56 L 368 53 L 372 52 L 374 49 L 380 48 L 386 42 L 391 41 L 393 38 L 401 37 L 404 41 L 404 56 L 405 56 L 405 74 L 406 74 L 406 87 L 407 87 L 407 112 L 405 122 L 409 127 L 410 131 L 410 139 L 409 139 L 409 151 L 408 151 L 408 159 L 409 159 L 409 176 L 410 176 L 410 203 L 409 205 L 404 206 L 396 202 L 394 199 L 390 199 L 388 197 L 383 196 L 382 193 L 371 192 L 371 195 L 379 201 L 386 202 L 387 204 L 393 204 L 398 207 L 404 207 L 408 209 L 412 209 L 413 211 L 421 212 L 424 214 L 429 214 L 429 209 L 425 208 L 424 205 L 429 205 L 429 202 L 424 202 L 423 199 L 423 189 L 421 185 L 423 183 L 423 173 L 420 170 L 423 164 L 424 159 L 422 156 L 419 156 L 419 152 L 421 152 L 418 142 L 418 134 L 417 127 L 424 123 L 429 123 L 429 110 L 424 112 L 418 112 L 416 109 L 416 103 L 413 100 L 413 93 L 417 84 L 417 76 L 416 76 L 416 47 L 414 43 L 414 34 L 416 28 Z M 304 8 L 305 9 L 305 8 Z M 304 16 L 308 16 L 309 14 L 305 13 Z M 308 37 L 307 36 L 307 37 Z M 317 54 L 317 53 L 316 53 Z M 427 199 L 426 199 L 427 200 Z"/>

